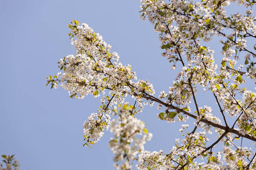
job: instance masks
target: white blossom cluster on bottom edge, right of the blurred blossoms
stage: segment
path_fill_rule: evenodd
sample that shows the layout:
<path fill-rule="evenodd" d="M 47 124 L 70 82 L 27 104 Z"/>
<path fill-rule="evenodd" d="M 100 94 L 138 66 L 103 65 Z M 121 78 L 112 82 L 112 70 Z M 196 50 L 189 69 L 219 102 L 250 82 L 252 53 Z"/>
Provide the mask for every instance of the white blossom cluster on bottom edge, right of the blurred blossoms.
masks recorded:
<path fill-rule="evenodd" d="M 188 125 L 182 126 L 182 129 L 185 128 L 188 128 Z M 136 167 L 138 169 L 177 169 L 179 164 L 185 164 L 187 169 L 207 169 L 209 167 L 220 169 L 220 165 L 217 163 L 220 162 L 221 155 L 220 153 L 213 155 L 210 152 L 208 154 L 207 148 L 205 148 L 207 141 L 209 139 L 205 136 L 205 132 L 187 133 L 186 137 L 181 141 L 181 145 L 179 145 L 179 139 L 176 139 L 176 144 L 169 154 L 163 154 L 163 151 L 160 150 L 159 152 L 145 151 L 139 155 L 141 163 L 136 165 Z M 204 163 L 193 162 L 193 158 L 197 158 L 199 155 L 201 159 L 207 158 L 210 160 L 209 163 L 204 165 Z"/>

